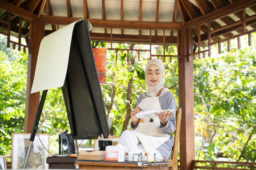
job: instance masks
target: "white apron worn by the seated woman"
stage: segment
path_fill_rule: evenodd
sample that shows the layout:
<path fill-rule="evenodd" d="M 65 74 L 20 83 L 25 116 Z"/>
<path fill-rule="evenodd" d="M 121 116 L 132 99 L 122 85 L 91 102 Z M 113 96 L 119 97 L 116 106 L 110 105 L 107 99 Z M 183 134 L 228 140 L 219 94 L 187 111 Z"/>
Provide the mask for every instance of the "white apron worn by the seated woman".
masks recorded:
<path fill-rule="evenodd" d="M 161 110 L 159 97 L 146 97 L 138 105 L 142 110 Z M 170 136 L 160 129 L 160 120 L 157 115 L 150 118 L 143 118 L 144 122 L 138 124 L 134 130 L 137 138 L 140 140 L 147 153 L 154 153 L 154 150 L 167 141 Z"/>

